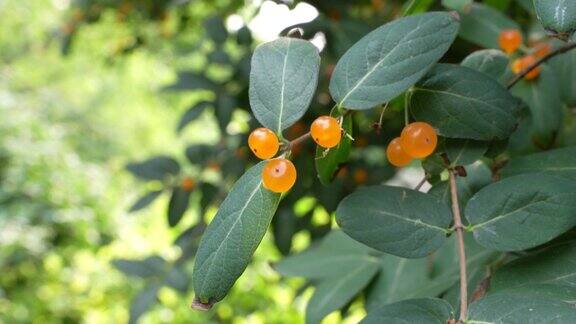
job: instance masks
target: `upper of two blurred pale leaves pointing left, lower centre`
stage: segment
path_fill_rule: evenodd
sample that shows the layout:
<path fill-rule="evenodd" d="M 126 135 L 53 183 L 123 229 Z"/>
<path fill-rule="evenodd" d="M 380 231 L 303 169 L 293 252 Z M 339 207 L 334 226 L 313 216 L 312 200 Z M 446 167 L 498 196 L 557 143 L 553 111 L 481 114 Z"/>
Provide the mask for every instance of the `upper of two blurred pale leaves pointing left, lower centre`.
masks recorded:
<path fill-rule="evenodd" d="M 274 265 L 274 270 L 287 277 L 326 279 L 343 276 L 357 268 L 358 264 L 379 263 L 369 255 L 373 251 L 339 230 L 333 230 L 318 246 L 289 256 Z"/>

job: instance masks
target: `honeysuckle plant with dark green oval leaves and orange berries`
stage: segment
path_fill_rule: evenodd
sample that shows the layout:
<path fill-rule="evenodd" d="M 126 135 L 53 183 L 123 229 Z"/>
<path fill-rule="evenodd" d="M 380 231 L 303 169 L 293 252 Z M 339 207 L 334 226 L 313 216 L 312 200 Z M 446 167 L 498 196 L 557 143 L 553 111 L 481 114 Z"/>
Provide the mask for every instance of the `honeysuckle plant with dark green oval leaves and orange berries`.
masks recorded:
<path fill-rule="evenodd" d="M 290 213 L 307 193 L 334 212 L 337 226 L 274 265 L 315 286 L 307 323 L 361 295 L 363 323 L 576 322 L 576 142 L 569 126 L 576 2 L 518 1 L 517 10 L 541 23 L 530 34 L 482 3 L 446 0 L 429 12 L 422 3 L 409 2 L 346 50 L 328 50 L 326 64 L 307 39 L 339 18 L 321 17 L 255 48 L 247 75 L 254 127 L 237 145 L 263 161 L 202 224 L 193 308 L 226 298 L 271 223 L 275 240 L 288 226 L 290 235 L 297 231 Z M 484 49 L 455 61 L 455 42 Z M 400 125 L 388 127 L 396 116 Z M 382 169 L 422 168 L 418 186 L 382 184 L 378 167 L 346 174 L 368 149 L 360 143 L 366 137 L 386 139 L 371 142 Z M 200 152 L 191 152 L 191 161 L 214 154 Z M 177 164 L 165 163 L 178 178 Z M 178 181 L 172 199 L 183 191 L 186 203 L 202 185 Z M 288 218 L 276 213 L 282 206 Z"/>

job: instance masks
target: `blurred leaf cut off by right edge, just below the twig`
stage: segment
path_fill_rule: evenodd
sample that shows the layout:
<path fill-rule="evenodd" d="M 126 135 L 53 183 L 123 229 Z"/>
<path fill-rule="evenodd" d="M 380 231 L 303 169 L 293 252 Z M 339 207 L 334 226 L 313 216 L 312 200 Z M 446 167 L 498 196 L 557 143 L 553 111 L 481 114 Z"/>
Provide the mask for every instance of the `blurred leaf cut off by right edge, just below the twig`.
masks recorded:
<path fill-rule="evenodd" d="M 554 57 L 550 65 L 558 78 L 562 100 L 568 107 L 576 107 L 576 50 Z"/>

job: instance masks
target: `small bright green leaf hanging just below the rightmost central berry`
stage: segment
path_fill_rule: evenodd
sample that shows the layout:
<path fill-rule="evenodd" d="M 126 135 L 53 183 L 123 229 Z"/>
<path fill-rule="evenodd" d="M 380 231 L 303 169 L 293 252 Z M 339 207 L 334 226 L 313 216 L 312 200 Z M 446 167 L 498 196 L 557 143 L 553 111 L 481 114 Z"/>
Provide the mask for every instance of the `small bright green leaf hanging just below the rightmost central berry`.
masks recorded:
<path fill-rule="evenodd" d="M 344 118 L 342 128 L 352 136 L 352 115 L 347 115 Z M 324 153 L 326 149 L 320 146 L 316 148 L 316 172 L 318 172 L 318 179 L 323 185 L 327 186 L 334 180 L 340 166 L 348 161 L 351 148 L 352 139 L 345 135 L 338 146 L 331 148 L 326 154 Z"/>

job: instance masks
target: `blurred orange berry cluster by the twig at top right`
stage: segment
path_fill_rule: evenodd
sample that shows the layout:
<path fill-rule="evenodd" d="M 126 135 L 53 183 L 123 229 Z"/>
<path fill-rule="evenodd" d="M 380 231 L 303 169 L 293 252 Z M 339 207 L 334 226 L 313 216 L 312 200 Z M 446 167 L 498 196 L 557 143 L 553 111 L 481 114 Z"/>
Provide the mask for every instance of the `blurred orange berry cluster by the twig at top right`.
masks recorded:
<path fill-rule="evenodd" d="M 513 55 L 521 49 L 523 43 L 522 33 L 518 29 L 505 29 L 498 38 L 500 48 L 508 55 Z M 515 74 L 521 73 L 524 69 L 536 63 L 538 59 L 548 55 L 551 51 L 550 44 L 538 43 L 528 49 L 528 54 L 517 57 L 512 61 L 511 69 Z M 540 75 L 540 67 L 532 69 L 524 79 L 534 80 Z"/>

